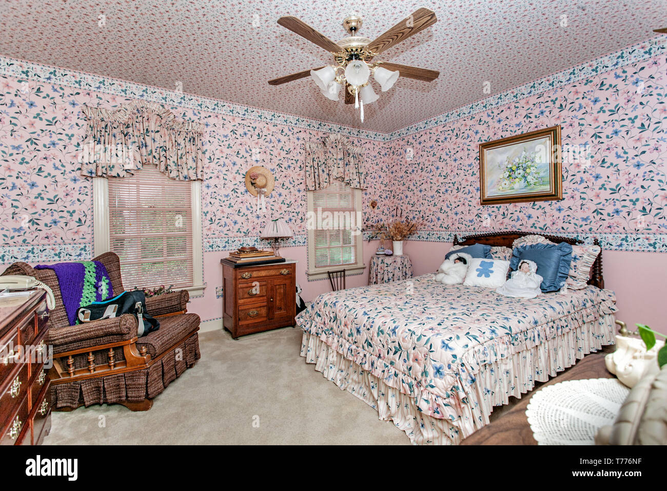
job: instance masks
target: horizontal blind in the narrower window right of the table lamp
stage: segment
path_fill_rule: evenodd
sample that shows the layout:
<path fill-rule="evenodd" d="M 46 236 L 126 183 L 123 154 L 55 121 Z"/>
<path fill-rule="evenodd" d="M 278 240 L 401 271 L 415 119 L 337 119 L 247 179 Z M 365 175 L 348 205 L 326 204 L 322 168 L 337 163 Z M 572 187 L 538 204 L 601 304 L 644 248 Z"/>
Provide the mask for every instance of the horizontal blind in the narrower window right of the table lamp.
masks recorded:
<path fill-rule="evenodd" d="M 313 266 L 331 269 L 358 263 L 360 236 L 356 228 L 356 190 L 338 180 L 326 189 L 313 191 L 311 212 L 315 214 L 313 229 Z"/>

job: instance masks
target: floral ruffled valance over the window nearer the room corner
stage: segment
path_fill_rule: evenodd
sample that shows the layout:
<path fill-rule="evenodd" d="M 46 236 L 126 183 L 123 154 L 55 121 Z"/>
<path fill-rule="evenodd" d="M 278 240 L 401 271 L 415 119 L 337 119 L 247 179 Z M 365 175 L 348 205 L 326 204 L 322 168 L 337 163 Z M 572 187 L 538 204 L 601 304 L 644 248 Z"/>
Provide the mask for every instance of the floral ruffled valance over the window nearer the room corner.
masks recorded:
<path fill-rule="evenodd" d="M 338 134 L 305 144 L 305 188 L 325 189 L 333 179 L 366 189 L 364 149 Z"/>

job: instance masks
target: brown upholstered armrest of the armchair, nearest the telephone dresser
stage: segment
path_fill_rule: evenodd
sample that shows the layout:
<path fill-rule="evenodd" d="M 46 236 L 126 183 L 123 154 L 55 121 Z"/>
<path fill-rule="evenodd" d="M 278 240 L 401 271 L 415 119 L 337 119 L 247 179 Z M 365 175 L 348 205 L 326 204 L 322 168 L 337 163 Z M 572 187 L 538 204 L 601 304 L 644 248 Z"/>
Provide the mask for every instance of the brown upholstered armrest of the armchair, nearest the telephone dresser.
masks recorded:
<path fill-rule="evenodd" d="M 137 337 L 137 319 L 131 314 L 123 314 L 111 319 L 52 328 L 48 342 L 53 345 L 53 353 L 57 354 L 128 341 L 133 337 Z"/>

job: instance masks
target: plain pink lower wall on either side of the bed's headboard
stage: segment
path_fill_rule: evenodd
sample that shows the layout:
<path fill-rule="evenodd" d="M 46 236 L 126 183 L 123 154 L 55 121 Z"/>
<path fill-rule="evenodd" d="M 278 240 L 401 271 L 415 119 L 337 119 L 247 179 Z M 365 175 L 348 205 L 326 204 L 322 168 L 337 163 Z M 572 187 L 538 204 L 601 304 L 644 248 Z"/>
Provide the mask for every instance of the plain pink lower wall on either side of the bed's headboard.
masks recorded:
<path fill-rule="evenodd" d="M 451 242 L 408 240 L 414 275 L 433 273 L 452 247 Z M 604 286 L 616 293 L 616 319 L 628 327 L 646 324 L 667 333 L 667 255 L 626 251 L 602 251 Z"/>

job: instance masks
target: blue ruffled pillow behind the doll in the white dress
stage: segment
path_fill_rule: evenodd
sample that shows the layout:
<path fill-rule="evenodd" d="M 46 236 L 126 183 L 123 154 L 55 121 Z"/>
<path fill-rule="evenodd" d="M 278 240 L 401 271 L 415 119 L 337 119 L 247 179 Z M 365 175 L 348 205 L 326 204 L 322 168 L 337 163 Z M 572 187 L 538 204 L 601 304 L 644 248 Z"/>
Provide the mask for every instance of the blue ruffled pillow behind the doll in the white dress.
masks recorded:
<path fill-rule="evenodd" d="M 560 244 L 529 244 L 515 247 L 512 251 L 510 269 L 516 271 L 519 263 L 527 259 L 538 265 L 538 275 L 542 277 L 542 293 L 560 290 L 568 279 L 572 246 L 567 242 Z"/>

